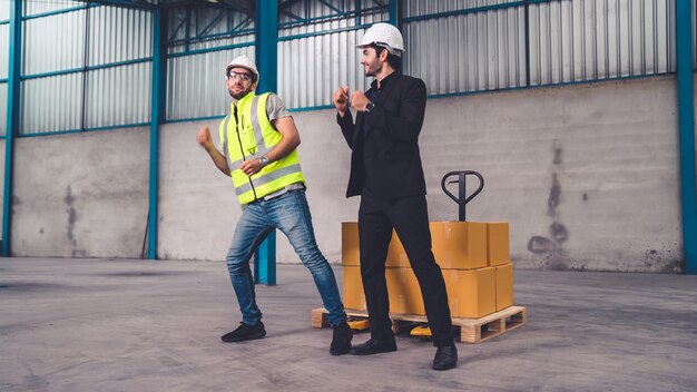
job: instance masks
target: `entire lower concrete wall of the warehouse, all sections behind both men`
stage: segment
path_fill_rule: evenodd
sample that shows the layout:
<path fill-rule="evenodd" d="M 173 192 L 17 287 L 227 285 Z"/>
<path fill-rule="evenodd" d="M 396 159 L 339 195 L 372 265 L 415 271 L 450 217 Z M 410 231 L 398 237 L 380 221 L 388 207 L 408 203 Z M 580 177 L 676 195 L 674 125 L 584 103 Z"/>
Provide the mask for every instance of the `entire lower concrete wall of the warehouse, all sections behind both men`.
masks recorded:
<path fill-rule="evenodd" d="M 458 217 L 441 177 L 473 169 L 487 183 L 468 219 L 510 222 L 518 267 L 681 271 L 675 84 L 659 77 L 429 100 L 421 148 L 431 219 Z M 334 110 L 294 118 L 317 241 L 338 263 L 340 223 L 355 220 L 359 205 L 344 197 L 350 150 Z M 239 206 L 195 139 L 199 126 L 216 122 L 161 128 L 163 258 L 225 257 Z M 21 138 L 16 157 L 17 255 L 140 255 L 147 130 Z M 282 235 L 278 262 L 298 262 Z"/>

